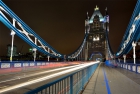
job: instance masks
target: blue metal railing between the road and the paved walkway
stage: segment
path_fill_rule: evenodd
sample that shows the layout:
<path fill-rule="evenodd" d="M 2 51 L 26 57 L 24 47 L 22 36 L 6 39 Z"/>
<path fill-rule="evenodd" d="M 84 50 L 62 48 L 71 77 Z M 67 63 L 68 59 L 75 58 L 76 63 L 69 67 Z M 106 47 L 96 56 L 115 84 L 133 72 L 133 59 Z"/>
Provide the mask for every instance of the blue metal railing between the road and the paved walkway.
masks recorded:
<path fill-rule="evenodd" d="M 78 94 L 85 87 L 99 63 L 92 64 L 33 89 L 25 94 Z"/>

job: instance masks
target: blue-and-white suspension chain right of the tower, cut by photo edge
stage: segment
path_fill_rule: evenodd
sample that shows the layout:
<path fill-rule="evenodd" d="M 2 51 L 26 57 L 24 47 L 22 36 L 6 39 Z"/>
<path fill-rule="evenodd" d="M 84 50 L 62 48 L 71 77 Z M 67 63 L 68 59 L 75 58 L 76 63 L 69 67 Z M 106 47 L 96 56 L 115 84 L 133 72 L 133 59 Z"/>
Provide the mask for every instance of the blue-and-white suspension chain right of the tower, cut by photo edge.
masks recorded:
<path fill-rule="evenodd" d="M 116 57 L 127 54 L 132 49 L 132 42 L 137 42 L 140 38 L 140 0 L 137 1 L 134 12 L 126 29 Z"/>

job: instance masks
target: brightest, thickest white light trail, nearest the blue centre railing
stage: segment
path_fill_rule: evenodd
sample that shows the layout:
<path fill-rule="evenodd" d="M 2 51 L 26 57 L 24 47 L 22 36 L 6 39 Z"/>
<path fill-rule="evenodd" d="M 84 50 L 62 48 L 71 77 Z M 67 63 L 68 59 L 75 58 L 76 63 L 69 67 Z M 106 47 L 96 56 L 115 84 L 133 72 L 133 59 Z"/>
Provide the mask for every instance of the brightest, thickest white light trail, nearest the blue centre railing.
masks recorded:
<path fill-rule="evenodd" d="M 31 85 L 31 84 L 36 84 L 36 83 L 39 83 L 39 82 L 42 82 L 42 81 L 45 81 L 45 80 L 49 80 L 51 78 L 58 77 L 58 76 L 61 76 L 63 74 L 67 74 L 69 72 L 74 72 L 74 71 L 77 71 L 79 69 L 83 69 L 83 68 L 86 68 L 88 66 L 97 64 L 97 63 L 99 63 L 99 62 L 91 62 L 91 63 L 82 64 L 84 66 L 79 66 L 79 67 L 76 67 L 76 68 L 73 68 L 73 69 L 68 69 L 68 70 L 58 72 L 58 73 L 55 73 L 55 74 L 52 74 L 52 75 L 48 75 L 48 76 L 44 76 L 44 77 L 41 77 L 41 78 L 38 78 L 38 79 L 34 79 L 34 80 L 31 80 L 31 81 L 28 81 L 28 82 L 25 82 L 25 83 L 20 83 L 20 84 L 14 85 L 14 86 L 9 86 L 9 87 L 6 87 L 4 89 L 0 89 L 0 93 L 4 93 L 4 92 L 7 92 L 7 91 L 16 89 L 16 88 L 20 88 L 20 87 L 28 86 L 28 85 Z"/>

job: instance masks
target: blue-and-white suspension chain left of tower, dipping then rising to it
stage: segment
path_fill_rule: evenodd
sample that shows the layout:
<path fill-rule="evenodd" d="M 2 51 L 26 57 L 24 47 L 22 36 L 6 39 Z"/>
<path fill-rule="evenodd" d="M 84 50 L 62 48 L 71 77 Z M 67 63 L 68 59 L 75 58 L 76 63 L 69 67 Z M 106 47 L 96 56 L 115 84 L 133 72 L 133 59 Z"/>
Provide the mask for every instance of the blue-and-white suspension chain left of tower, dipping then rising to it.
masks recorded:
<path fill-rule="evenodd" d="M 6 14 L 6 15 L 5 15 Z M 13 22 L 10 22 L 10 20 L 7 18 L 7 15 L 13 20 Z M 53 47 L 51 47 L 46 41 L 44 41 L 39 35 L 37 35 L 27 24 L 25 24 L 8 6 L 6 6 L 2 0 L 0 0 L 0 21 L 5 24 L 13 33 L 18 35 L 21 39 L 23 39 L 25 42 L 27 42 L 31 47 L 34 48 L 34 51 L 38 50 L 50 57 L 53 58 L 62 58 L 64 59 L 63 54 L 57 52 Z M 15 26 L 15 23 L 21 28 L 18 29 Z M 79 56 L 79 54 L 82 52 L 85 44 L 85 39 L 87 36 L 87 32 L 85 33 L 85 37 L 83 39 L 83 42 L 78 47 L 76 51 L 74 51 L 72 54 L 69 54 L 66 56 L 68 59 L 73 59 Z M 34 40 L 31 38 L 33 37 Z"/>

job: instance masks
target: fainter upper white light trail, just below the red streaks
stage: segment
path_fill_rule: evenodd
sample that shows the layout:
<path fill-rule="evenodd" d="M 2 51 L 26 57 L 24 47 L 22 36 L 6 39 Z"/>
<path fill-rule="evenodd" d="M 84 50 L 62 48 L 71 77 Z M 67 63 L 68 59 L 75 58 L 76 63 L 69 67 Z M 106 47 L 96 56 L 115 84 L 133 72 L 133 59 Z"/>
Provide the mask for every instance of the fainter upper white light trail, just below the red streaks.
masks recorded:
<path fill-rule="evenodd" d="M 8 82 L 8 81 L 14 81 L 14 80 L 23 79 L 23 78 L 32 77 L 32 76 L 37 76 L 37 75 L 41 75 L 41 74 L 45 74 L 45 73 L 49 73 L 49 72 L 54 72 L 54 71 L 60 71 L 60 70 L 63 70 L 63 69 L 69 69 L 69 68 L 78 67 L 78 66 L 81 66 L 81 65 L 83 65 L 83 64 L 64 67 L 64 68 L 53 69 L 53 70 L 49 70 L 49 71 L 43 71 L 43 72 L 29 74 L 29 75 L 23 74 L 23 76 L 16 76 L 15 78 L 12 78 L 12 79 L 9 79 L 9 80 L 0 81 L 0 83 L 4 83 L 4 82 Z"/>

